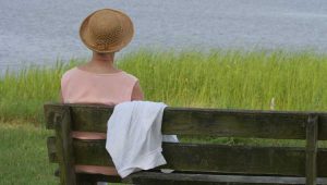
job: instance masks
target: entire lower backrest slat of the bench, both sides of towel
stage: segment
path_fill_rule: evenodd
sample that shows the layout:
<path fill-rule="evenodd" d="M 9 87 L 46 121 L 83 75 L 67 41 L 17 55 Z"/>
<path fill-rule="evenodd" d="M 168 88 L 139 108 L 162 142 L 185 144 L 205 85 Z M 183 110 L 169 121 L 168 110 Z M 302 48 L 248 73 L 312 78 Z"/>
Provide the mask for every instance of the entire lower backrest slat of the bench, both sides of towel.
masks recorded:
<path fill-rule="evenodd" d="M 113 166 L 105 143 L 75 139 L 75 163 Z M 305 176 L 305 148 L 201 144 L 164 144 L 162 148 L 169 163 L 165 168 L 179 171 Z M 327 149 L 318 150 L 317 174 L 327 176 Z"/>

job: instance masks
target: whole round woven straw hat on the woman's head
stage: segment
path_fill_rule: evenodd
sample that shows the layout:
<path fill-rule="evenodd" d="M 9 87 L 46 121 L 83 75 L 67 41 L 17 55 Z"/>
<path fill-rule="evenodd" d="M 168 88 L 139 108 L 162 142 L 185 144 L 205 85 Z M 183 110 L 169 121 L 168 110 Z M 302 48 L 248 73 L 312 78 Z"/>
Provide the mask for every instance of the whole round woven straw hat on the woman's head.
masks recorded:
<path fill-rule="evenodd" d="M 101 53 L 119 51 L 132 40 L 133 34 L 131 18 L 112 9 L 95 11 L 80 28 L 80 37 L 86 47 Z"/>

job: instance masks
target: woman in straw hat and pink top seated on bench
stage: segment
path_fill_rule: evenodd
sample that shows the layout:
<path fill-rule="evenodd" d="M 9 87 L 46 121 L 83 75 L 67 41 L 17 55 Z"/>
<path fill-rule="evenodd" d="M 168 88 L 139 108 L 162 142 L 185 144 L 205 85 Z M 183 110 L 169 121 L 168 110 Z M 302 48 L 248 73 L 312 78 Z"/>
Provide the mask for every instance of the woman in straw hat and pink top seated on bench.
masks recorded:
<path fill-rule="evenodd" d="M 130 17 L 117 10 L 104 9 L 88 15 L 80 36 L 93 51 L 89 62 L 66 71 L 61 78 L 61 101 L 64 103 L 101 103 L 114 106 L 143 100 L 138 79 L 114 66 L 114 53 L 133 37 Z M 105 133 L 74 132 L 76 139 L 106 139 Z M 116 175 L 113 168 L 76 165 L 77 172 Z"/>

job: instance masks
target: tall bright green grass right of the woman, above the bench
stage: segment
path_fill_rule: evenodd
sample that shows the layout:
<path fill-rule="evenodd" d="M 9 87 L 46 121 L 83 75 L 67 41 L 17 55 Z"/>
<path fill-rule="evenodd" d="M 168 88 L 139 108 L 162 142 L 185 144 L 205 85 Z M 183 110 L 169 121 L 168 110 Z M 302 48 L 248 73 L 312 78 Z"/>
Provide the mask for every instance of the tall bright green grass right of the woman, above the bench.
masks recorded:
<path fill-rule="evenodd" d="M 140 51 L 121 66 L 146 98 L 170 106 L 222 109 L 326 110 L 326 55 L 311 52 Z"/>

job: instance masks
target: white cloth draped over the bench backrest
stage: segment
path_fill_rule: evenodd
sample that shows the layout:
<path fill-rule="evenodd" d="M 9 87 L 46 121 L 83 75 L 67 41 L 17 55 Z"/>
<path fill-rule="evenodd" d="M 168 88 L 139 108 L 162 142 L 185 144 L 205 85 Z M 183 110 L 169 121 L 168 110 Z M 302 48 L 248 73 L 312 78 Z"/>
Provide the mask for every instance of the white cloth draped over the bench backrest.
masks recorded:
<path fill-rule="evenodd" d="M 161 153 L 166 107 L 152 101 L 128 101 L 114 107 L 108 121 L 106 149 L 121 177 L 167 163 Z M 168 141 L 178 139 L 171 136 Z"/>

